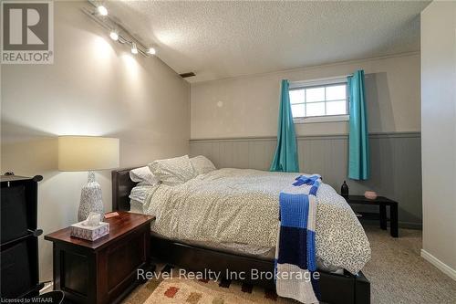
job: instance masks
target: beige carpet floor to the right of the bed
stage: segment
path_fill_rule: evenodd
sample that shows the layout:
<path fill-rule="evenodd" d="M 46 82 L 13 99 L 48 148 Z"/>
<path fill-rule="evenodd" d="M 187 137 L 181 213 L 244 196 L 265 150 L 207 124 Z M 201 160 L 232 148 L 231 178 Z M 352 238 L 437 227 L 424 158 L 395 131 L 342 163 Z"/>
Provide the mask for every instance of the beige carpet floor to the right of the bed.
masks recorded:
<path fill-rule="evenodd" d="M 363 272 L 372 303 L 456 303 L 456 281 L 420 257 L 421 231 L 400 229 L 390 237 L 366 226 L 372 257 Z"/>

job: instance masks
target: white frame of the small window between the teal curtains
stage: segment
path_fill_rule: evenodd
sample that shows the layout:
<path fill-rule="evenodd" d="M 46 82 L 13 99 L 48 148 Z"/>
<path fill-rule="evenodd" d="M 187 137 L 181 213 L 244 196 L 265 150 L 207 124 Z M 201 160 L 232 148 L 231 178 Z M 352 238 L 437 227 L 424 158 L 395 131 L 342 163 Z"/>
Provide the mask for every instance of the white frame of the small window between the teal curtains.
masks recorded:
<path fill-rule="evenodd" d="M 339 83 L 347 84 L 347 76 L 348 75 L 337 76 L 337 77 L 326 78 L 326 79 L 291 81 L 288 89 L 291 90 L 291 89 L 299 89 L 299 88 L 323 87 L 323 86 L 330 86 L 332 84 L 336 85 Z M 347 86 L 348 86 L 348 84 L 347 84 Z M 347 91 L 347 114 L 296 117 L 296 118 L 293 118 L 293 121 L 295 123 L 321 123 L 321 122 L 349 121 L 350 116 L 348 113 L 349 113 L 349 95 L 348 95 L 348 91 Z"/>

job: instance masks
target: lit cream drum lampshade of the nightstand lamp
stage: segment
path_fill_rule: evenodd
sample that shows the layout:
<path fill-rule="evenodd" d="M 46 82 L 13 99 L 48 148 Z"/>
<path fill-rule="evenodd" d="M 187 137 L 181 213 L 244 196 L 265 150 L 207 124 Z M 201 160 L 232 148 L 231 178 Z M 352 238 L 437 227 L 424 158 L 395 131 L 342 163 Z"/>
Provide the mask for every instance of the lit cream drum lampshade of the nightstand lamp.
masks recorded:
<path fill-rule="evenodd" d="M 119 167 L 119 139 L 96 136 L 58 137 L 58 170 L 91 171 Z"/>

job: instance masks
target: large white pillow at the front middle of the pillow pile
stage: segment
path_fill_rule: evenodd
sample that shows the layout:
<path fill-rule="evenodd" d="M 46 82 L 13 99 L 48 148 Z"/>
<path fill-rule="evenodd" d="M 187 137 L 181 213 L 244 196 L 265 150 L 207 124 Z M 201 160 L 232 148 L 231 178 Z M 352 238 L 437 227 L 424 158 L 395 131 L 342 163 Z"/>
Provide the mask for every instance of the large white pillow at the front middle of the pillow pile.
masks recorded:
<path fill-rule="evenodd" d="M 149 164 L 150 171 L 164 184 L 185 183 L 196 176 L 189 155 L 158 160 Z"/>

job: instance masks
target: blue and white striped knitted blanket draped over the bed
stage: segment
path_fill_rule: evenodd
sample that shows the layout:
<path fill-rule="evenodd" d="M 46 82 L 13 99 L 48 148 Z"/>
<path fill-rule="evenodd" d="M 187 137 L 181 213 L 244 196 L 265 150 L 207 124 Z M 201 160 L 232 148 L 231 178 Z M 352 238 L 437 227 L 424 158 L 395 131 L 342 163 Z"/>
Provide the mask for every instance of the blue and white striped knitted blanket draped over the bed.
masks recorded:
<path fill-rule="evenodd" d="M 275 249 L 275 286 L 281 297 L 318 303 L 316 271 L 316 192 L 319 175 L 301 175 L 279 195 L 279 237 Z"/>

